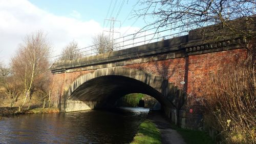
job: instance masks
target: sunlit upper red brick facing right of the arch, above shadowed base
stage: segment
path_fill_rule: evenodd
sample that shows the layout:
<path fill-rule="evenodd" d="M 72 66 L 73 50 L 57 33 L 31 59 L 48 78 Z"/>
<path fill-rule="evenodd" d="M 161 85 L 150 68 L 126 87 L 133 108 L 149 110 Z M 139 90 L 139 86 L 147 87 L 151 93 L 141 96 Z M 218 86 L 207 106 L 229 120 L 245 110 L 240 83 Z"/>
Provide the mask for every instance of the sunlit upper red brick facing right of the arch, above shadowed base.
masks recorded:
<path fill-rule="evenodd" d="M 217 74 L 225 66 L 235 66 L 239 59 L 244 59 L 245 57 L 245 49 L 236 49 L 190 55 L 186 58 L 132 64 L 123 67 L 139 69 L 163 76 L 180 89 L 186 87 L 186 85 L 181 85 L 180 82 L 187 81 L 187 94 L 202 97 L 206 94 L 206 87 L 209 83 L 210 75 Z M 186 90 L 186 88 L 184 89 Z"/>

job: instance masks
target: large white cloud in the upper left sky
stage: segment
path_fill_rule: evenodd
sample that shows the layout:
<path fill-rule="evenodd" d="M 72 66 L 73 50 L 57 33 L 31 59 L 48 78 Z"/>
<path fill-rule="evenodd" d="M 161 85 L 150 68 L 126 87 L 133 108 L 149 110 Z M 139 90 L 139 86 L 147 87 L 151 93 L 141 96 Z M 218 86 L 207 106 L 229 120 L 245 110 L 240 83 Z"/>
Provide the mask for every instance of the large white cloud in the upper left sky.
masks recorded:
<path fill-rule="evenodd" d="M 73 14 L 76 12 L 73 11 Z M 8 64 L 18 44 L 27 34 L 42 30 L 53 44 L 53 54 L 60 53 L 71 40 L 80 47 L 91 44 L 91 37 L 102 31 L 94 20 L 84 22 L 75 18 L 56 16 L 41 10 L 26 0 L 0 0 L 0 60 Z"/>

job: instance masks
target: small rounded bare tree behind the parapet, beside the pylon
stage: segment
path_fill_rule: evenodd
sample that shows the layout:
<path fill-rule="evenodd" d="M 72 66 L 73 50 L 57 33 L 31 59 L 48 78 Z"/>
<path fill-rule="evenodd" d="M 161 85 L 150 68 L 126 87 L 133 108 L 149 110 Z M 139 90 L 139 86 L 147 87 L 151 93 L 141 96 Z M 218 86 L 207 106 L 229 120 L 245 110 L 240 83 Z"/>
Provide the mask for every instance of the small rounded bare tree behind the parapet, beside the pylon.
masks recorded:
<path fill-rule="evenodd" d="M 111 52 L 114 49 L 114 42 L 110 40 L 109 36 L 104 34 L 97 34 L 93 37 L 93 50 L 97 54 Z"/>

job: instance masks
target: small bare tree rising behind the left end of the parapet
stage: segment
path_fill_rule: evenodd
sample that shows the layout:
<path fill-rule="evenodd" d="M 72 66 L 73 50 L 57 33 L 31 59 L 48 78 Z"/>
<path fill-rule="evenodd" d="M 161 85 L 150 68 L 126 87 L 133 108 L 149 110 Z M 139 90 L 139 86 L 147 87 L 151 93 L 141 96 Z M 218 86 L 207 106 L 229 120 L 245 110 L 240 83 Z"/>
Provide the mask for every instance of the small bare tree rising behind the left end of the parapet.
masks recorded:
<path fill-rule="evenodd" d="M 80 56 L 78 43 L 73 40 L 62 50 L 60 60 L 72 60 L 79 58 Z"/>

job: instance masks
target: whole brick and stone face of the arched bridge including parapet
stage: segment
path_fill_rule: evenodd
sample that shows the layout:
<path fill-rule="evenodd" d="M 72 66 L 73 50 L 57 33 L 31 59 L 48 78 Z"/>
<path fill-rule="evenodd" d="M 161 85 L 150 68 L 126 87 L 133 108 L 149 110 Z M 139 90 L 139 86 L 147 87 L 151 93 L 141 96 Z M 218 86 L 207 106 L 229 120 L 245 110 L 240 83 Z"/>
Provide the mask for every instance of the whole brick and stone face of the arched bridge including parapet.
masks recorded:
<path fill-rule="evenodd" d="M 59 60 L 51 67 L 53 73 L 52 98 L 62 100 L 61 97 L 65 97 L 65 92 L 70 90 L 69 87 L 72 87 L 73 81 L 79 79 L 78 77 L 82 78 L 82 75 L 86 77 L 88 76 L 86 74 L 97 72 L 97 70 L 99 73 L 100 70 L 116 67 L 126 68 L 129 71 L 132 69 L 142 70 L 144 74 L 146 73 L 145 75 L 154 74 L 164 81 L 161 83 L 164 84 L 161 85 L 163 88 L 163 91 L 160 92 L 162 98 L 166 96 L 166 89 L 170 88 L 170 85 L 166 84 L 166 80 L 177 86 L 179 91 L 185 92 L 186 101 L 181 108 L 183 112 L 180 113 L 183 119 L 180 120 L 185 121 L 187 128 L 201 128 L 202 104 L 206 96 L 209 96 L 207 89 L 211 82 L 211 76 L 219 79 L 225 78 L 222 70 L 227 66 L 233 69 L 239 60 L 246 58 L 247 50 L 242 47 L 248 48 L 248 40 L 250 40 L 246 37 L 222 36 L 222 34 L 222 38 L 212 41 L 210 39 L 216 35 L 211 31 L 204 35 L 202 32 L 205 32 L 205 29 L 208 28 L 195 29 L 188 35 L 129 49 L 73 60 Z M 252 29 L 255 29 L 254 25 L 252 25 Z M 208 39 L 204 39 L 205 36 Z M 135 75 L 141 77 L 139 74 Z M 181 81 L 184 81 L 185 84 L 182 85 Z M 154 84 L 158 85 L 158 82 Z M 73 89 L 69 92 L 67 94 L 71 94 Z M 165 114 L 167 112 L 167 115 L 173 116 L 174 113 L 170 114 L 170 111 L 174 111 L 174 109 L 165 111 Z"/>

